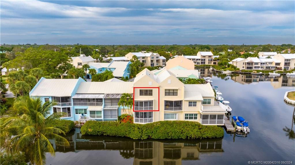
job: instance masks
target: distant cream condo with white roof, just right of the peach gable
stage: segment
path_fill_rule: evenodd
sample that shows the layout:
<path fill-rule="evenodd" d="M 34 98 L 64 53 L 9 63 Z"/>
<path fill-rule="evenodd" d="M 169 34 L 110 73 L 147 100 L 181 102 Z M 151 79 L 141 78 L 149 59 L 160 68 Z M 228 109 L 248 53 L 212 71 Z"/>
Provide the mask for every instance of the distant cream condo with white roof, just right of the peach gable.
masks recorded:
<path fill-rule="evenodd" d="M 178 57 L 178 55 L 173 57 Z M 183 57 L 193 61 L 195 65 L 217 64 L 217 61 L 213 61 L 214 57 L 211 51 L 199 51 L 196 56 L 183 56 Z"/>

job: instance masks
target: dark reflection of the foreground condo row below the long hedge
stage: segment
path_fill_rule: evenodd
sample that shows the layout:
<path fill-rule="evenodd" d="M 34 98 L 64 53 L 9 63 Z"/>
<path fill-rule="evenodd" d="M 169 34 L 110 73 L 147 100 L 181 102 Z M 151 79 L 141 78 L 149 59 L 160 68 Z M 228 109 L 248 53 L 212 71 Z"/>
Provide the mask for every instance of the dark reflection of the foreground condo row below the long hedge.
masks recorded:
<path fill-rule="evenodd" d="M 182 160 L 198 160 L 200 152 L 223 152 L 222 139 L 141 141 L 109 136 L 84 136 L 77 128 L 65 138 L 70 141 L 69 148 L 58 141 L 51 141 L 56 152 L 89 150 L 90 153 L 91 150 L 105 150 L 107 153 L 108 150 L 117 150 L 122 158 L 133 158 L 133 164 L 140 165 L 181 164 Z M 109 153 L 108 156 L 117 157 L 119 154 Z"/>

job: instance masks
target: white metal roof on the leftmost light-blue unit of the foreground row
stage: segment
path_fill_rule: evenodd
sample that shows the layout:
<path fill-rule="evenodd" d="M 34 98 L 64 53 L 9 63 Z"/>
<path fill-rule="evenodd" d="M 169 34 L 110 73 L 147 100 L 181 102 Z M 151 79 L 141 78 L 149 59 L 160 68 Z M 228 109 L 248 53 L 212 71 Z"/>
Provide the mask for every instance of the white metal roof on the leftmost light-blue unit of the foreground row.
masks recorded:
<path fill-rule="evenodd" d="M 78 79 L 40 79 L 30 96 L 71 96 Z"/>

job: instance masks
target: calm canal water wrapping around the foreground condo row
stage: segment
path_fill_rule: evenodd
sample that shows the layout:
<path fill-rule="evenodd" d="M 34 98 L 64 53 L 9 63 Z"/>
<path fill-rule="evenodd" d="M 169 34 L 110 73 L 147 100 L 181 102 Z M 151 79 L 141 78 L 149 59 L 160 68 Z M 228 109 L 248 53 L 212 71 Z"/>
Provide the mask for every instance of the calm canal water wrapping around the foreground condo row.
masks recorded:
<path fill-rule="evenodd" d="M 222 139 L 131 140 L 105 136 L 82 136 L 76 129 L 67 135 L 70 148 L 52 141 L 55 157 L 47 164 L 248 164 L 248 161 L 293 161 L 295 141 L 291 129 L 293 106 L 284 103 L 286 91 L 295 89 L 295 77 L 222 75 L 201 70 L 219 86 L 230 101 L 232 115 L 243 116 L 250 125 L 247 137 L 224 132 Z M 294 128 L 295 129 L 295 126 Z"/>

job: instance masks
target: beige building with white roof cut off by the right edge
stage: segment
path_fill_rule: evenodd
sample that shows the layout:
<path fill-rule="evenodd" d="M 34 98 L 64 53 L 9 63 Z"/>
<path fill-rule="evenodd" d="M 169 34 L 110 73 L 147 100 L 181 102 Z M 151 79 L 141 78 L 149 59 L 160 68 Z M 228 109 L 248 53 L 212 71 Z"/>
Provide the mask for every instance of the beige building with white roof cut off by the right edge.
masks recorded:
<path fill-rule="evenodd" d="M 295 68 L 295 54 L 277 54 L 272 58 L 281 61 L 281 69 L 292 70 Z"/>

